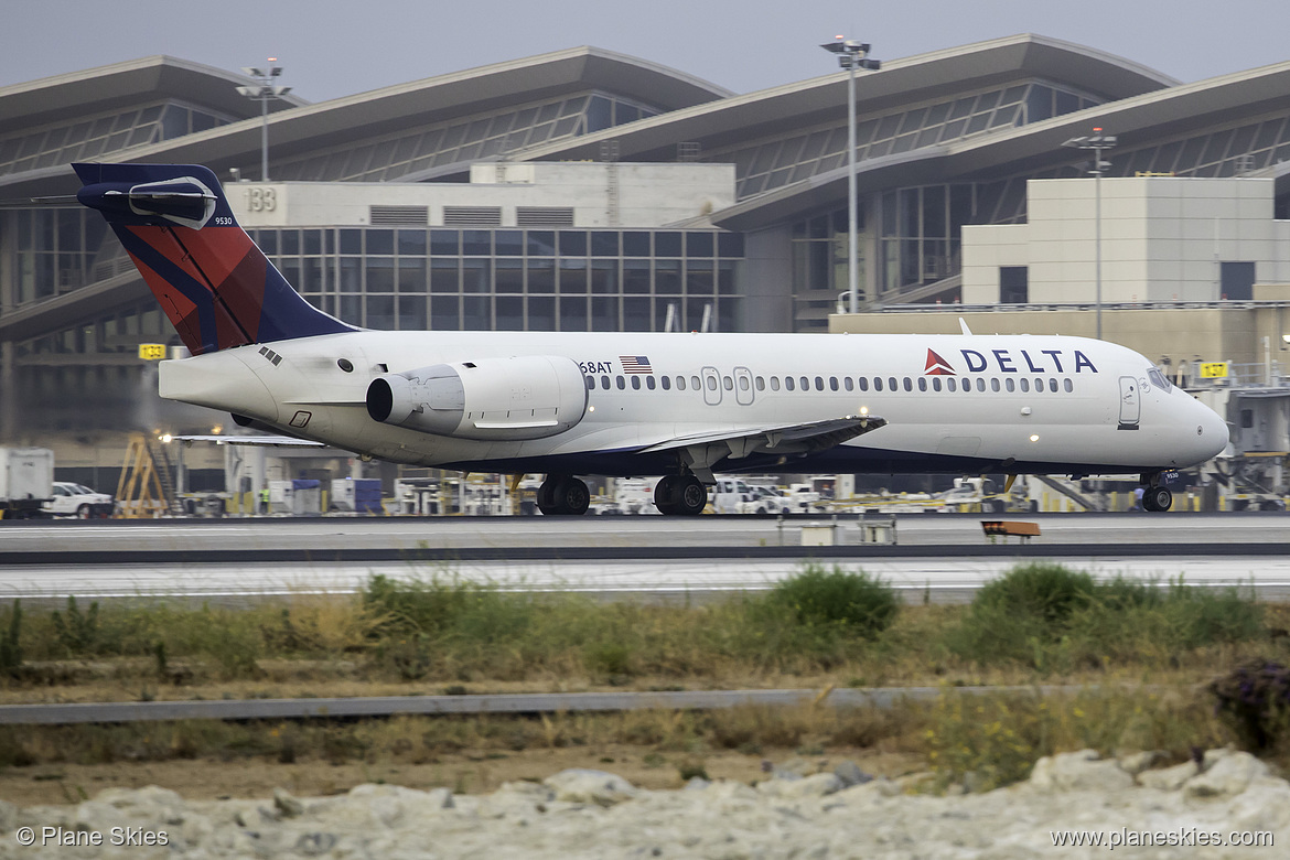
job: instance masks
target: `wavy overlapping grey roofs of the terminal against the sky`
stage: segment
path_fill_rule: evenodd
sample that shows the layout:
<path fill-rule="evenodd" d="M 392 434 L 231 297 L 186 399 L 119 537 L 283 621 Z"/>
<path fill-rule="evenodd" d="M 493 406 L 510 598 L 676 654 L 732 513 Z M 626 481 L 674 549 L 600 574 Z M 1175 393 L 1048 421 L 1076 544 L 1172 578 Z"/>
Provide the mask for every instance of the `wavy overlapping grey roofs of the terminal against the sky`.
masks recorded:
<path fill-rule="evenodd" d="M 823 62 L 823 58 L 822 58 Z M 1227 75 L 1196 84 L 1089 48 L 1031 34 L 995 39 L 906 59 L 888 61 L 858 77 L 860 116 L 911 110 L 956 93 L 1038 81 L 1084 93 L 1100 106 L 1023 126 L 993 128 L 962 139 L 899 155 L 862 160 L 867 187 L 992 178 L 1069 166 L 1082 153 L 1060 144 L 1093 125 L 1120 137 L 1118 152 L 1135 142 L 1161 142 L 1197 129 L 1250 121 L 1290 110 L 1290 63 Z M 236 94 L 248 79 L 170 57 L 150 57 L 74 75 L 0 89 L 4 129 L 67 120 L 89 106 L 132 104 L 157 94 L 218 108 L 243 121 L 160 143 L 104 152 L 99 159 L 192 161 L 217 171 L 258 161 L 261 120 L 255 106 Z M 846 73 L 757 93 L 731 94 L 693 76 L 648 61 L 596 48 L 573 48 L 473 70 L 427 77 L 317 104 L 297 101 L 270 117 L 275 161 L 372 143 L 402 129 L 488 116 L 516 106 L 592 90 L 618 94 L 662 113 L 626 125 L 564 138 L 508 153 L 516 160 L 586 160 L 614 141 L 624 161 L 672 161 L 680 142 L 697 142 L 721 160 L 735 147 L 775 141 L 845 116 Z M 822 170 L 823 166 L 822 165 Z M 461 165 L 449 165 L 458 170 Z M 424 178 L 442 170 L 401 177 Z M 1290 182 L 1280 171 L 1278 184 Z M 747 230 L 836 204 L 845 196 L 845 165 L 757 193 L 715 213 L 711 220 Z M 64 193 L 76 182 L 67 165 L 0 177 L 4 196 Z"/>

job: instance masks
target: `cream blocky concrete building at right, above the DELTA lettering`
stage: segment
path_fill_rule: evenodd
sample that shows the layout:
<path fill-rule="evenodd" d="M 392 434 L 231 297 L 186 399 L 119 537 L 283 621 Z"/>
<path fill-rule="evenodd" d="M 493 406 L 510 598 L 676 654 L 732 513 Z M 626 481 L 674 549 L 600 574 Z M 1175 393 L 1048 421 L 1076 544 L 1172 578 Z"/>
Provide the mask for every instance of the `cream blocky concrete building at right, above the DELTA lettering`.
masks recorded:
<path fill-rule="evenodd" d="M 1035 179 L 1024 224 L 962 230 L 968 304 L 1249 302 L 1290 281 L 1269 178 Z M 1098 239 L 1100 235 L 1100 239 Z M 1100 244 L 1100 250 L 1099 250 Z"/>

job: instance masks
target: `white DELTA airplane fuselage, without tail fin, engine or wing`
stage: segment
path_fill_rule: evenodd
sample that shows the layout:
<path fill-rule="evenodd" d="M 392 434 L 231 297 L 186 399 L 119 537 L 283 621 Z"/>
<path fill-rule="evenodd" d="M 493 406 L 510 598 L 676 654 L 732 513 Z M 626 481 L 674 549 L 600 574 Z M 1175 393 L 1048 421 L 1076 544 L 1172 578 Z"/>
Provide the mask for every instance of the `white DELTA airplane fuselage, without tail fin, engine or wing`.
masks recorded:
<path fill-rule="evenodd" d="M 584 411 L 568 429 L 463 438 L 366 407 L 382 376 L 522 356 L 577 364 Z M 526 382 L 506 384 L 525 406 Z M 648 449 L 670 440 L 855 415 L 886 425 L 802 456 L 733 451 L 712 468 L 1129 474 L 1193 465 L 1228 440 L 1143 356 L 1036 335 L 356 331 L 163 362 L 161 395 L 381 459 L 497 472 L 660 474 L 676 453 Z"/>

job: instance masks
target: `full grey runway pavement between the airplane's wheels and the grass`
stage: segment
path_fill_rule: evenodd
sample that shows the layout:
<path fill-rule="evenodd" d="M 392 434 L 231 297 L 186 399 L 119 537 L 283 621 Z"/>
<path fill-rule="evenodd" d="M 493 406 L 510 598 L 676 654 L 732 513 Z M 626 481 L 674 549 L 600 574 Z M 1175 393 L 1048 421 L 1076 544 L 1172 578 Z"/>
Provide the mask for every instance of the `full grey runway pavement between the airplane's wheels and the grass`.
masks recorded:
<path fill-rule="evenodd" d="M 1041 536 L 989 544 L 980 521 L 1038 522 Z M 802 547 L 828 517 L 316 518 L 0 523 L 0 600 L 353 592 L 369 576 L 459 576 L 501 588 L 702 600 L 768 588 L 809 560 L 863 569 L 911 601 L 958 602 L 1019 561 L 1055 558 L 1098 576 L 1184 576 L 1290 597 L 1290 516 L 900 516 L 898 543 Z"/>

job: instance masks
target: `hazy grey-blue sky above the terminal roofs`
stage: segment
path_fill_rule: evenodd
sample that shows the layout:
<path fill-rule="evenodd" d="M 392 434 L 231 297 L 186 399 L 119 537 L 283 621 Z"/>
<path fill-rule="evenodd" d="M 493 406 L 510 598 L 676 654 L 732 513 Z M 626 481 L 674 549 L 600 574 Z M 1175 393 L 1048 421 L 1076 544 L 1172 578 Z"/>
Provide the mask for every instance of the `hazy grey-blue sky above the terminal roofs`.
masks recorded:
<path fill-rule="evenodd" d="M 0 0 L 0 86 L 152 54 L 276 57 L 310 102 L 593 45 L 749 93 L 827 75 L 836 35 L 897 59 L 1033 32 L 1183 81 L 1290 59 L 1286 0 Z"/>

